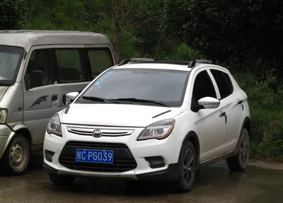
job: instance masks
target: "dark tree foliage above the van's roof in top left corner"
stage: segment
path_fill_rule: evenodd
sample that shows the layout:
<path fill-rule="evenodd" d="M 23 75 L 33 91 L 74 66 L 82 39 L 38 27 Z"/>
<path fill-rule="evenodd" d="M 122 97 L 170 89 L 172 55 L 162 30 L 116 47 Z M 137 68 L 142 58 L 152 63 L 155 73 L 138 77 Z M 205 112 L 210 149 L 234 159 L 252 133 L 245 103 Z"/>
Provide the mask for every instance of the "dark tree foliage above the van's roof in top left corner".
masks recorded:
<path fill-rule="evenodd" d="M 2 0 L 0 2 L 0 30 L 23 28 L 28 16 L 25 0 Z"/>

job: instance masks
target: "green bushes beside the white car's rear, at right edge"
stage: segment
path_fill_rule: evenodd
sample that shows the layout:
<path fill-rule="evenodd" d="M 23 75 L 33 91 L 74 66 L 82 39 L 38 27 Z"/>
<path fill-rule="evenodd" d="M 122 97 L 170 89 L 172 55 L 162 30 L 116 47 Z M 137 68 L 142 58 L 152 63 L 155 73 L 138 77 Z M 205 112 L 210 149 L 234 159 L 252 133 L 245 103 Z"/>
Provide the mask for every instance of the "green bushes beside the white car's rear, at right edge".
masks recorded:
<path fill-rule="evenodd" d="M 255 74 L 235 74 L 239 86 L 246 91 L 253 122 L 253 155 L 283 161 L 283 87 L 276 91 L 270 84 L 277 79 L 259 81 Z"/>

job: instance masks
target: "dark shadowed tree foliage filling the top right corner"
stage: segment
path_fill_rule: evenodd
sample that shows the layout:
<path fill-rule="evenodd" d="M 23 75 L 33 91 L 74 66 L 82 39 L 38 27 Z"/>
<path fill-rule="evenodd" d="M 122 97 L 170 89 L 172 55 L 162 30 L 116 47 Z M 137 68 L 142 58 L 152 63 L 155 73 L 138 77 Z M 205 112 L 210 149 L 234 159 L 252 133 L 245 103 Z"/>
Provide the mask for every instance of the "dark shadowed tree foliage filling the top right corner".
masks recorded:
<path fill-rule="evenodd" d="M 282 13 L 283 1 L 275 0 L 166 0 L 163 29 L 221 62 L 283 64 Z"/>

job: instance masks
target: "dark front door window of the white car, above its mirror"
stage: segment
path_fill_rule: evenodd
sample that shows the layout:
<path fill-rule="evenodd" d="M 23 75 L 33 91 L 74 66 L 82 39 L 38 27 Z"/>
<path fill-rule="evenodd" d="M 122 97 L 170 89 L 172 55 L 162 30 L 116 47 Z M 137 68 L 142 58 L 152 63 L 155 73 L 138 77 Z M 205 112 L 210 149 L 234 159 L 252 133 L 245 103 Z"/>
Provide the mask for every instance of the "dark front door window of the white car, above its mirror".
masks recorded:
<path fill-rule="evenodd" d="M 197 104 L 197 101 L 204 97 L 216 98 L 216 92 L 207 71 L 201 71 L 195 78 L 192 103 Z"/>

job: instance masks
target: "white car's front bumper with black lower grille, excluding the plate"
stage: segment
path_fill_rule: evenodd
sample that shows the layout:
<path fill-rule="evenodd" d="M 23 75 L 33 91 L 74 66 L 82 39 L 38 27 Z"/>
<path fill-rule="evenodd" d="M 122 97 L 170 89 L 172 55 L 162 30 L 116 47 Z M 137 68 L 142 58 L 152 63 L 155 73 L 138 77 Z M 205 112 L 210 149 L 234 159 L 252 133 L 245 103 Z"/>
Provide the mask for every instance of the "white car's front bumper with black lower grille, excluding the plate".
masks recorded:
<path fill-rule="evenodd" d="M 47 173 L 78 177 L 130 178 L 134 180 L 174 180 L 177 178 L 179 151 L 174 150 L 173 139 L 175 138 L 173 133 L 163 140 L 137 141 L 142 128 L 134 129 L 134 132 L 128 136 L 95 138 L 70 133 L 67 131 L 67 127 L 70 127 L 70 125 L 62 124 L 63 137 L 45 134 L 43 155 L 44 168 Z M 119 146 L 119 149 L 114 149 L 114 162 L 116 165 L 114 163 L 112 166 L 108 164 L 108 166 L 105 165 L 103 166 L 105 168 L 101 169 L 101 167 L 97 167 L 98 164 L 76 163 L 74 149 L 81 148 L 78 145 L 81 143 L 83 146 L 88 147 L 93 144 L 94 149 L 100 149 L 95 146 L 109 145 L 112 149 L 114 149 L 114 146 Z M 48 156 L 48 151 L 52 152 L 52 158 Z M 124 158 L 120 162 L 124 164 L 123 166 L 119 166 L 119 161 L 115 161 L 115 154 L 120 156 L 118 157 L 120 161 Z M 164 164 L 152 168 L 146 158 L 156 156 L 162 157 Z M 127 161 L 128 168 L 125 166 L 125 161 Z"/>

